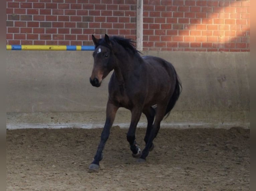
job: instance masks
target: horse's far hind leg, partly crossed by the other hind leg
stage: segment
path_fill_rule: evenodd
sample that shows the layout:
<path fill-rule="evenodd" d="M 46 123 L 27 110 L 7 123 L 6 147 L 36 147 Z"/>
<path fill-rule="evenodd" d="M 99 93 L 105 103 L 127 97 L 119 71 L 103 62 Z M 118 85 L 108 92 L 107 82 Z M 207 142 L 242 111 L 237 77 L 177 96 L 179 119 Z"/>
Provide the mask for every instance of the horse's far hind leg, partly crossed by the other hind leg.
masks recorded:
<path fill-rule="evenodd" d="M 142 112 L 147 117 L 147 130 L 146 130 L 146 134 L 145 134 L 145 137 L 144 137 L 144 141 L 147 144 L 149 134 L 150 134 L 150 131 L 152 129 L 152 125 L 153 125 L 154 118 L 155 118 L 155 109 L 151 106 L 150 107 L 144 107 Z M 149 151 L 152 151 L 153 148 L 154 148 L 154 144 L 152 143 L 150 148 L 149 148 Z"/>

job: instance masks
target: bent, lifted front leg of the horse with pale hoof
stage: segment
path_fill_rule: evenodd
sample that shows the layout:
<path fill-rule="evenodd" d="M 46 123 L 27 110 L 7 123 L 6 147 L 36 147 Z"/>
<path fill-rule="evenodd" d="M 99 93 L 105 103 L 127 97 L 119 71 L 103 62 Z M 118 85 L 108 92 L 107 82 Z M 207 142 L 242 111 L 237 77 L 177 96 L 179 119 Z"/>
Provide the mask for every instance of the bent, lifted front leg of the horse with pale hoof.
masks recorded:
<path fill-rule="evenodd" d="M 141 156 L 141 150 L 135 141 L 135 131 L 137 124 L 140 120 L 140 116 L 142 113 L 141 108 L 133 108 L 132 109 L 132 118 L 131 124 L 127 133 L 127 141 L 130 143 L 130 149 L 132 151 L 132 156 L 135 158 L 139 158 Z"/>

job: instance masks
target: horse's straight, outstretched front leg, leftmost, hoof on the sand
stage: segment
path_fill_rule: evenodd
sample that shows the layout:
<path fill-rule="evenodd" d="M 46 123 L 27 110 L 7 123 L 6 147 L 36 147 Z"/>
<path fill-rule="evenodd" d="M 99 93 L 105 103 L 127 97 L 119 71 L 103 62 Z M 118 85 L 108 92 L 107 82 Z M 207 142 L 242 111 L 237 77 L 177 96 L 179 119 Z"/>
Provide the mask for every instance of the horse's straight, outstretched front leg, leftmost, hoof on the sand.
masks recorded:
<path fill-rule="evenodd" d="M 106 141 L 108 140 L 108 137 L 110 134 L 110 128 L 113 125 L 117 109 L 118 109 L 118 107 L 116 105 L 114 105 L 113 103 L 108 101 L 106 122 L 105 122 L 104 128 L 101 133 L 101 141 L 98 146 L 97 152 L 94 156 L 94 160 L 91 163 L 91 165 L 89 166 L 90 170 L 98 170 L 99 169 L 100 161 L 103 158 L 103 149 L 104 149 Z"/>

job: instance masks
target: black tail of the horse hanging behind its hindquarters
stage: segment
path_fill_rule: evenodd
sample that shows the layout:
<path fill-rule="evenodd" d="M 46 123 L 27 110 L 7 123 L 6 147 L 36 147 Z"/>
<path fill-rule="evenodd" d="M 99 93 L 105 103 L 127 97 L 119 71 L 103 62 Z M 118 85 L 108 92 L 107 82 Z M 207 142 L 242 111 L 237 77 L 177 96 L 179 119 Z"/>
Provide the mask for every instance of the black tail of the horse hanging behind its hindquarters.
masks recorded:
<path fill-rule="evenodd" d="M 165 111 L 165 114 L 164 114 L 164 115 L 166 115 L 166 117 L 169 116 L 172 108 L 174 107 L 174 105 L 175 105 L 176 101 L 178 100 L 179 95 L 182 91 L 181 82 L 180 82 L 180 79 L 179 79 L 174 67 L 173 67 L 173 70 L 174 70 L 174 75 L 175 75 L 175 89 L 174 89 L 173 94 L 171 95 L 171 98 L 169 100 L 169 103 L 167 105 L 167 108 L 166 108 L 166 111 Z"/>

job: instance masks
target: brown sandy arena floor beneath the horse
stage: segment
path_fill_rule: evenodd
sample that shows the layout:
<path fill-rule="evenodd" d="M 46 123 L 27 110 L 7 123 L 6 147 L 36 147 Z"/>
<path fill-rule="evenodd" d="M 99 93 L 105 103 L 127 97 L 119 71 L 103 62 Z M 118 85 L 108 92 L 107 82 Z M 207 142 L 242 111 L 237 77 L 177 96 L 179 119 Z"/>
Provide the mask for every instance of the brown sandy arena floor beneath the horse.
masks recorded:
<path fill-rule="evenodd" d="M 250 189 L 249 129 L 160 129 L 145 163 L 132 157 L 127 130 L 112 127 L 92 173 L 102 129 L 7 130 L 7 191 Z M 145 130 L 136 131 L 141 149 Z"/>

